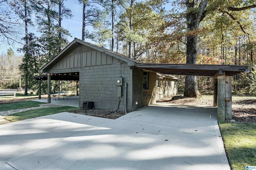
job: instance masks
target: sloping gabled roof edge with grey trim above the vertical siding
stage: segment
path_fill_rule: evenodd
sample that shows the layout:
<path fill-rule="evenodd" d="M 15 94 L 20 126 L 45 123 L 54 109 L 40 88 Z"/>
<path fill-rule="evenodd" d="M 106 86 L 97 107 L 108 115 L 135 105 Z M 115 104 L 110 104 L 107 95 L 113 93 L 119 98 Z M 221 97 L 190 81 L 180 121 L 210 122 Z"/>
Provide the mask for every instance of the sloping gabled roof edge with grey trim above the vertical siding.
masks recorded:
<path fill-rule="evenodd" d="M 55 63 L 57 63 L 61 58 L 62 56 L 64 55 L 67 55 L 68 53 L 70 53 L 70 51 L 72 51 L 73 49 L 75 49 L 78 44 L 82 44 L 82 45 L 86 45 L 92 49 L 95 49 L 97 51 L 100 51 L 102 53 L 106 53 L 107 55 L 110 55 L 112 57 L 115 57 L 117 59 L 120 59 L 124 62 L 127 62 L 128 63 L 128 66 L 136 66 L 136 63 L 141 63 L 139 61 L 136 61 L 134 59 L 131 59 L 131 58 L 128 58 L 126 57 L 125 55 L 122 55 L 122 54 L 119 54 L 119 53 L 116 53 L 114 51 L 110 51 L 106 48 L 103 48 L 103 47 L 99 47 L 97 45 L 94 45 L 92 43 L 88 43 L 88 42 L 85 42 L 83 40 L 80 40 L 78 38 L 74 38 L 74 40 L 69 43 L 64 49 L 62 49 L 62 51 L 60 51 L 53 59 L 51 59 L 48 63 L 46 63 L 46 65 L 44 65 L 44 67 L 42 67 L 42 69 L 40 69 L 40 72 L 48 72 L 48 69 L 50 69 L 50 67 L 52 67 L 52 65 L 54 65 Z"/>

